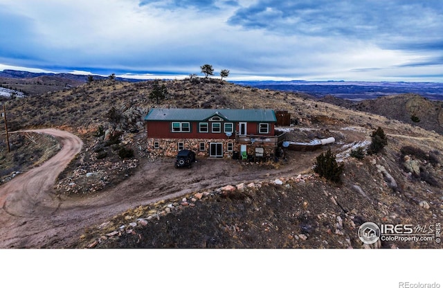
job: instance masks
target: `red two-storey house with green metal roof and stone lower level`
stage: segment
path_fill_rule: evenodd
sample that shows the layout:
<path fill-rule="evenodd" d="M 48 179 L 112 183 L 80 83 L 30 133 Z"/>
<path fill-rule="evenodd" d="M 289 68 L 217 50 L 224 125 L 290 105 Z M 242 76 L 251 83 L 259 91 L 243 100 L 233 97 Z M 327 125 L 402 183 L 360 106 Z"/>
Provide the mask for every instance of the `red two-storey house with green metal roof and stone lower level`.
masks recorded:
<path fill-rule="evenodd" d="M 272 156 L 284 134 L 275 135 L 271 109 L 153 108 L 145 117 L 148 150 L 174 156 L 189 149 L 198 156 Z"/>

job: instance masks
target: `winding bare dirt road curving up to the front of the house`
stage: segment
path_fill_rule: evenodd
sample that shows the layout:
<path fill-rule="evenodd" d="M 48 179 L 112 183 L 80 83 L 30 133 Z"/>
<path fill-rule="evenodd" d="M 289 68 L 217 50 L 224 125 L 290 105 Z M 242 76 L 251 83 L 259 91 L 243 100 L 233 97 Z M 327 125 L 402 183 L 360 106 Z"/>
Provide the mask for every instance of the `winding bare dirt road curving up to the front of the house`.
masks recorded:
<path fill-rule="evenodd" d="M 129 208 L 179 197 L 204 188 L 242 181 L 296 175 L 310 167 L 318 154 L 289 157 L 282 168 L 264 169 L 237 161 L 198 159 L 191 169 L 173 168 L 173 159 L 141 163 L 134 176 L 118 186 L 87 197 L 60 197 L 57 175 L 80 152 L 82 141 L 69 132 L 35 130 L 55 136 L 62 150 L 43 165 L 0 186 L 0 248 L 65 248 L 84 229 L 105 222 Z"/>

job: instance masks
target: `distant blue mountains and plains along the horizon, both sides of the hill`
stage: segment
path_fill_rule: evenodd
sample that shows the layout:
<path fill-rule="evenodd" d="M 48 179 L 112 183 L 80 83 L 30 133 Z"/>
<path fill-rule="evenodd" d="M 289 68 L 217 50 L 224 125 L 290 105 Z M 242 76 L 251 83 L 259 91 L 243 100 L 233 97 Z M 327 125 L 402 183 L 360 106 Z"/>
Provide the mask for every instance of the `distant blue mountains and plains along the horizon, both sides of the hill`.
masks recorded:
<path fill-rule="evenodd" d="M 94 80 L 108 77 L 93 75 Z M 117 81 L 140 82 L 132 78 Z M 88 81 L 88 75 L 71 73 L 33 73 L 28 71 L 0 71 L 0 84 L 5 88 L 23 91 L 28 95 L 76 87 Z M 229 80 L 228 80 L 229 81 Z M 443 100 L 443 83 L 437 82 L 358 82 L 358 81 L 229 81 L 257 89 L 308 93 L 316 98 L 334 96 L 346 100 L 368 100 L 381 96 L 413 93 L 429 100 Z M 39 87 L 37 87 L 39 85 Z"/>

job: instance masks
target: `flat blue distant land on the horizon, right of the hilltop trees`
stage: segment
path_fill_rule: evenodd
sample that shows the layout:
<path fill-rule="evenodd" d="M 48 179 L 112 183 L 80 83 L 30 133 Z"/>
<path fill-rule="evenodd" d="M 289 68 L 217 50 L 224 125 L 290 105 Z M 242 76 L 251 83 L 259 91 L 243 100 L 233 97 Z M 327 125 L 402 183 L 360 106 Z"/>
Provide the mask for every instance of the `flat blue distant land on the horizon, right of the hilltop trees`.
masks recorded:
<path fill-rule="evenodd" d="M 430 100 L 443 100 L 443 83 L 434 82 L 354 82 L 354 81 L 231 81 L 258 89 L 309 93 L 317 98 L 334 96 L 347 100 L 374 99 L 415 93 Z"/>

